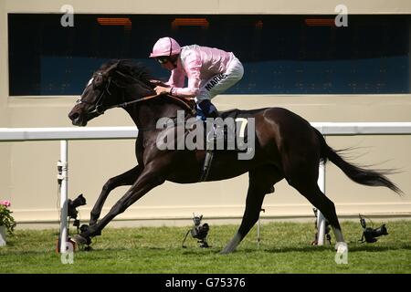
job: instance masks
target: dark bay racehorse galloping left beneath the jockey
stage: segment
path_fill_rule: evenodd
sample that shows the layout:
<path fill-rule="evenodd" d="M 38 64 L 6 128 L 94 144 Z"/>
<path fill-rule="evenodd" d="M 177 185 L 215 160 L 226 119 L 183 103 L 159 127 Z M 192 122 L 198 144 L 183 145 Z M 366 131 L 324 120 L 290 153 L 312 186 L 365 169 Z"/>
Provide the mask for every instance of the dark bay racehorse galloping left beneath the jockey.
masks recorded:
<path fill-rule="evenodd" d="M 146 69 L 130 60 L 112 60 L 104 64 L 90 79 L 78 103 L 68 114 L 76 126 L 86 126 L 105 110 L 121 107 L 132 117 L 139 134 L 135 155 L 138 164 L 131 170 L 111 178 L 104 184 L 90 216 L 90 227 L 74 240 L 90 243 L 90 237 L 100 231 L 118 214 L 139 200 L 154 187 L 171 181 L 198 183 L 203 172 L 205 150 L 159 150 L 156 139 L 163 130 L 156 121 L 176 117 L 177 110 L 192 115 L 185 103 L 167 96 L 156 96 Z M 149 97 L 149 98 L 147 98 Z M 207 181 L 219 181 L 248 172 L 249 185 L 246 209 L 237 234 L 222 253 L 234 251 L 256 224 L 264 197 L 282 179 L 306 197 L 332 225 L 337 245 L 343 244 L 341 227 L 334 203 L 321 193 L 317 184 L 319 163 L 330 160 L 355 183 L 385 186 L 396 193 L 401 190 L 389 181 L 390 172 L 367 170 L 345 162 L 311 124 L 290 110 L 268 108 L 231 110 L 255 119 L 255 154 L 250 160 L 238 160 L 235 151 L 216 151 Z M 101 208 L 107 196 L 121 185 L 132 187 L 100 220 Z M 272 191 L 271 191 L 272 192 Z"/>

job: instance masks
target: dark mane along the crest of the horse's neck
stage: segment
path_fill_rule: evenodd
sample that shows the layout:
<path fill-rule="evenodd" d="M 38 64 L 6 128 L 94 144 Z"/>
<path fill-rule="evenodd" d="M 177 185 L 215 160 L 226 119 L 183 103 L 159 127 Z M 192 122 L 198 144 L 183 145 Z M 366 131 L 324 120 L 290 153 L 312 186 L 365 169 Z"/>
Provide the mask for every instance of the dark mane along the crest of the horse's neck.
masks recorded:
<path fill-rule="evenodd" d="M 136 78 L 153 89 L 153 83 L 150 81 L 153 79 L 150 70 L 142 65 L 142 63 L 132 59 L 112 59 L 101 65 L 100 70 L 106 70 L 116 63 L 118 63 L 117 69 L 121 73 Z"/>

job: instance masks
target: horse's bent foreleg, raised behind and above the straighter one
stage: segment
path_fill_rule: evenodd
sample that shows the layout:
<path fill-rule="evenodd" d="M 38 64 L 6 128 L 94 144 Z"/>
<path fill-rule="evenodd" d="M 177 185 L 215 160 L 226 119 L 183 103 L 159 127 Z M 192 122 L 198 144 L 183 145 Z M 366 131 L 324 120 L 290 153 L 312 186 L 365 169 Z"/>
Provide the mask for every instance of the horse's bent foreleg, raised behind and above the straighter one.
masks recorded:
<path fill-rule="evenodd" d="M 107 181 L 107 183 L 104 184 L 99 199 L 97 199 L 93 209 L 91 210 L 90 225 L 94 225 L 97 223 L 97 220 L 100 217 L 102 206 L 106 202 L 109 193 L 121 185 L 132 185 L 132 183 L 134 183 L 137 180 L 140 173 L 142 173 L 142 169 L 143 167 L 139 164 L 132 168 L 130 171 L 112 177 L 110 180 Z"/>

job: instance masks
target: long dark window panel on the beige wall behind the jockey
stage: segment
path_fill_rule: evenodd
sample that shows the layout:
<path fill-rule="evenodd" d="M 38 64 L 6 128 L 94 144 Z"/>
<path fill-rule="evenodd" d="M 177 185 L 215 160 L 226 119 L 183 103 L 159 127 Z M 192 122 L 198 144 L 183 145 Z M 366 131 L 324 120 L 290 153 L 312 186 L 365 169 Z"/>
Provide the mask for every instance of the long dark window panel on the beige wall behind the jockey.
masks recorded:
<path fill-rule="evenodd" d="M 11 96 L 79 95 L 111 58 L 133 58 L 167 79 L 148 55 L 173 36 L 232 51 L 243 79 L 227 93 L 353 94 L 410 92 L 411 16 L 160 16 L 9 14 Z"/>

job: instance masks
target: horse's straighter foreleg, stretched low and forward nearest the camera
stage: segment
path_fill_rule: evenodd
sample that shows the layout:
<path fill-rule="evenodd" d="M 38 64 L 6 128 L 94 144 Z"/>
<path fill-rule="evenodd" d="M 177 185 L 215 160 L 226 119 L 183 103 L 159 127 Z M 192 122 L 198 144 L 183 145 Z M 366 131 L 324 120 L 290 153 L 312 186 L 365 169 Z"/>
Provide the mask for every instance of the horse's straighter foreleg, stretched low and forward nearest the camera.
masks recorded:
<path fill-rule="evenodd" d="M 109 224 L 115 216 L 123 213 L 132 203 L 135 203 L 145 193 L 150 192 L 154 187 L 162 183 L 164 183 L 162 175 L 144 168 L 137 181 L 132 185 L 130 190 L 112 206 L 110 212 L 101 218 L 97 224 L 90 226 L 89 230 L 82 232 L 80 235 L 76 235 L 73 239 L 79 244 L 88 243 L 90 236 L 99 235 L 100 231 Z"/>

